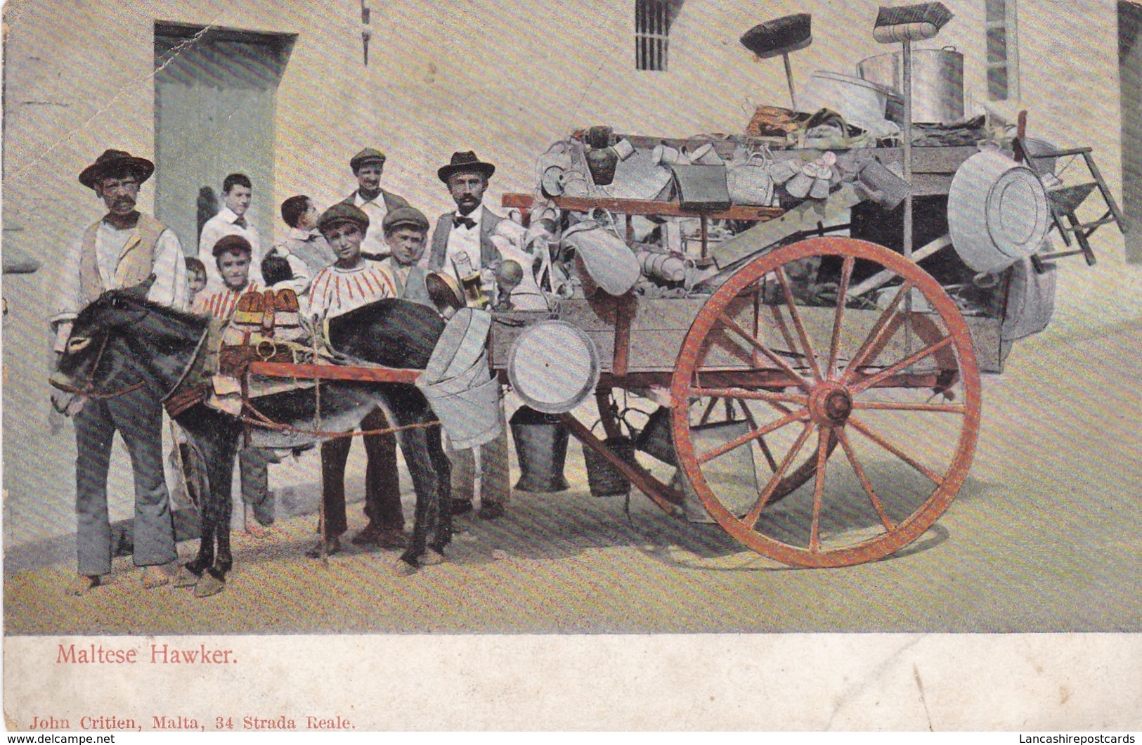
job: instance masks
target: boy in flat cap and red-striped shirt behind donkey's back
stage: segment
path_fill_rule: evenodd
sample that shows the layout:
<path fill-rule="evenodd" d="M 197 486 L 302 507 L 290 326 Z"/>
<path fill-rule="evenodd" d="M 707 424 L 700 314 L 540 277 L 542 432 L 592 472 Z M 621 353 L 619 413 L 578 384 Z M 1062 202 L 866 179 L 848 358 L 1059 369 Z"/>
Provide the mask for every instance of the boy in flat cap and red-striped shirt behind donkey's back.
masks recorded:
<path fill-rule="evenodd" d="M 337 261 L 317 272 L 309 288 L 309 312 L 317 325 L 352 310 L 397 297 L 396 282 L 379 262 L 361 255 L 361 243 L 369 229 L 369 216 L 357 207 L 339 202 L 317 219 L 317 229 L 329 241 Z M 373 409 L 361 420 L 361 430 L 387 430 L 388 419 L 381 409 Z M 396 439 L 392 434 L 367 434 L 364 450 L 364 513 L 369 524 L 353 537 L 356 545 L 400 548 L 404 514 L 401 508 L 400 474 L 396 471 Z M 335 438 L 321 444 L 322 515 L 325 521 L 324 554 L 341 550 L 340 536 L 348 529 L 345 514 L 345 463 L 354 438 Z M 306 552 L 311 558 L 322 554 L 319 544 Z"/>

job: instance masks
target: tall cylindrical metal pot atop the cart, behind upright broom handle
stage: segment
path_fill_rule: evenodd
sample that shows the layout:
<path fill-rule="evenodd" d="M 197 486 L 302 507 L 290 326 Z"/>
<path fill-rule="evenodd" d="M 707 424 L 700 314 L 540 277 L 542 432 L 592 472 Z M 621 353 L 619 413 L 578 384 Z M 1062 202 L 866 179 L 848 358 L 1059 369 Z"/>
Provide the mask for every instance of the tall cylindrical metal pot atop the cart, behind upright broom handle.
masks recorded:
<path fill-rule="evenodd" d="M 864 80 L 904 93 L 899 51 L 861 59 Z M 955 47 L 912 49 L 912 121 L 940 123 L 964 118 L 964 55 Z"/>

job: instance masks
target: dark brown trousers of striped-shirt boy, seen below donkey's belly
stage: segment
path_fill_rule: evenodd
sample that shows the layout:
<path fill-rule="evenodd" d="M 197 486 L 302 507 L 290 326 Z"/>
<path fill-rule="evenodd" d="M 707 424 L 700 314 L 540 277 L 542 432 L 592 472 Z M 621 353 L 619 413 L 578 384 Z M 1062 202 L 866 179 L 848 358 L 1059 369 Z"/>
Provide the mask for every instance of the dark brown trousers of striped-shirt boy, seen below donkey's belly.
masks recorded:
<path fill-rule="evenodd" d="M 361 419 L 362 430 L 388 428 L 388 418 L 373 409 Z M 345 518 L 345 463 L 357 438 L 337 438 L 321 443 L 321 498 L 325 535 L 339 536 L 348 529 Z M 401 511 L 401 476 L 396 470 L 396 435 L 367 434 L 364 452 L 364 514 L 380 528 L 404 528 Z"/>

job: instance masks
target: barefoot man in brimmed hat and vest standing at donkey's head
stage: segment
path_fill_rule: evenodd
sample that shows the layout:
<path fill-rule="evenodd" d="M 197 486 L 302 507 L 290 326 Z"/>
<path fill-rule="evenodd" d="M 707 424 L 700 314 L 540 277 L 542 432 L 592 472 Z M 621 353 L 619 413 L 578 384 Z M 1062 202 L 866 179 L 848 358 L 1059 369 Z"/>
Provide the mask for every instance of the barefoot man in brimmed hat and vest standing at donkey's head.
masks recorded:
<path fill-rule="evenodd" d="M 103 200 L 107 214 L 83 231 L 67 255 L 59 282 L 56 352 L 66 349 L 72 321 L 105 290 L 143 285 L 153 303 L 185 311 L 186 264 L 172 231 L 136 209 L 139 185 L 154 163 L 121 150 L 107 150 L 83 169 L 79 181 Z M 135 564 L 144 587 L 170 580 L 175 558 L 170 495 L 162 467 L 162 392 L 146 387 L 106 399 L 89 399 L 75 425 L 75 548 L 79 577 L 74 594 L 105 584 L 111 574 L 107 471 L 119 432 L 135 472 Z"/>

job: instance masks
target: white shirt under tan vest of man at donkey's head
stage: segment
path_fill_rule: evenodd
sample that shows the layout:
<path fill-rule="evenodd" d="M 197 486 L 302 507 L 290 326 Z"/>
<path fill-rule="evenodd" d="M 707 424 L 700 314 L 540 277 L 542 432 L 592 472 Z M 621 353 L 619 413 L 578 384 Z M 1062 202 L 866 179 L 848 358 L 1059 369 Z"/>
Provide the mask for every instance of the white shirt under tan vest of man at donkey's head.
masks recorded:
<path fill-rule="evenodd" d="M 135 235 L 135 227 L 121 230 L 104 218 L 95 232 L 95 263 L 99 270 L 99 279 L 106 289 L 120 289 L 115 282 L 115 270 L 119 257 L 127 241 Z M 59 277 L 59 302 L 51 322 L 59 322 L 55 350 L 62 352 L 71 336 L 72 320 L 87 305 L 80 294 L 80 253 L 83 250 L 83 237 L 72 245 L 71 253 L 64 258 Z M 152 303 L 167 305 L 176 311 L 187 310 L 190 288 L 186 282 L 186 262 L 178 237 L 169 227 L 159 234 L 154 247 L 154 283 L 147 290 L 146 298 Z"/>

